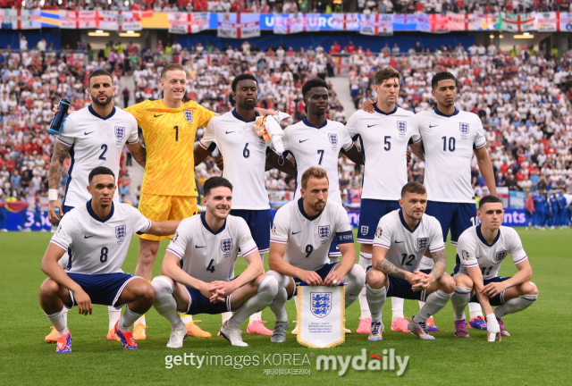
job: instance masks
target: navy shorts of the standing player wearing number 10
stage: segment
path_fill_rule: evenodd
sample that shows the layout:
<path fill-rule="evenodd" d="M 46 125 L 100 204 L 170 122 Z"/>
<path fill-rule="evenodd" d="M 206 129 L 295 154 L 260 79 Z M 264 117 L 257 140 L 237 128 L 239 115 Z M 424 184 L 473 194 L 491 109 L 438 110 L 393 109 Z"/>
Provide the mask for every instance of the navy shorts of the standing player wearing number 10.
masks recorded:
<path fill-rule="evenodd" d="M 450 230 L 450 243 L 457 245 L 461 233 L 475 225 L 476 205 L 468 203 L 443 203 L 427 201 L 425 214 L 431 215 L 439 221 L 443 232 L 443 241 L 447 242 Z"/>

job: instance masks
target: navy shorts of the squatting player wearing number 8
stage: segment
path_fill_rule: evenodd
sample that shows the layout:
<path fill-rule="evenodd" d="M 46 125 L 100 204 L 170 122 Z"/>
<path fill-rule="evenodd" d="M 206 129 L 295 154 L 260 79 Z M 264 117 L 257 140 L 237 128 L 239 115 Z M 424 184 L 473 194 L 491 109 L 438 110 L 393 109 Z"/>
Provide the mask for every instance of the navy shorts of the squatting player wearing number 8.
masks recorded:
<path fill-rule="evenodd" d="M 139 276 L 130 273 L 68 273 L 72 281 L 80 284 L 81 290 L 86 291 L 92 304 L 114 306 L 121 308 L 122 304 L 116 304 L 122 291 L 128 282 Z M 73 292 L 70 291 L 71 306 L 77 306 Z M 71 308 L 71 307 L 70 307 Z"/>

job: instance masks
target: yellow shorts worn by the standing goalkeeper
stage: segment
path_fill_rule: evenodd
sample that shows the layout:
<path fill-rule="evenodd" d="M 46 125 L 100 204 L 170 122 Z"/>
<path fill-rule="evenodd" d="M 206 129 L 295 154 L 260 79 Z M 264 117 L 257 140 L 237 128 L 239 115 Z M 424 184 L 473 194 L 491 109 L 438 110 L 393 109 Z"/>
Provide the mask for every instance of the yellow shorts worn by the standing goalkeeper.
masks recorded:
<path fill-rule="evenodd" d="M 139 212 L 154 222 L 166 220 L 183 220 L 197 214 L 197 197 L 189 196 L 157 196 L 141 194 Z M 141 239 L 160 241 L 172 239 L 171 236 L 137 235 Z"/>

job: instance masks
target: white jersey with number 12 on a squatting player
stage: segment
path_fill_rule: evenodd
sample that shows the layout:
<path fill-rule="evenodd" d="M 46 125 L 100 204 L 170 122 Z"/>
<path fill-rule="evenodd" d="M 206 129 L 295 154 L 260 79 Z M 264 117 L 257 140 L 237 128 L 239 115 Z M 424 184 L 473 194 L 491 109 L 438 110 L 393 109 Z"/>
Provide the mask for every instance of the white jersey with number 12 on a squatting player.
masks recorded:
<path fill-rule="evenodd" d="M 415 229 L 403 218 L 402 209 L 385 214 L 377 224 L 374 247 L 387 248 L 385 259 L 404 271 L 419 270 L 425 250 L 431 253 L 445 248 L 441 224 L 436 218 L 423 214 Z"/>

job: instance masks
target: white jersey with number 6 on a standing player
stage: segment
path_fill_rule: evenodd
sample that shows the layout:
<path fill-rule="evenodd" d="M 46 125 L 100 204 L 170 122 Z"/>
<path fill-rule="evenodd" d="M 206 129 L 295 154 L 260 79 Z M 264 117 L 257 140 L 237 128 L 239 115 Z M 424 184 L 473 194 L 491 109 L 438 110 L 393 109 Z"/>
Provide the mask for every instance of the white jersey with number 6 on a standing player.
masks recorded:
<path fill-rule="evenodd" d="M 265 164 L 270 142 L 258 137 L 254 122 L 236 113 L 214 116 L 206 125 L 199 144 L 214 143 L 224 158 L 223 177 L 232 184 L 232 209 L 270 209 L 265 186 Z"/>

